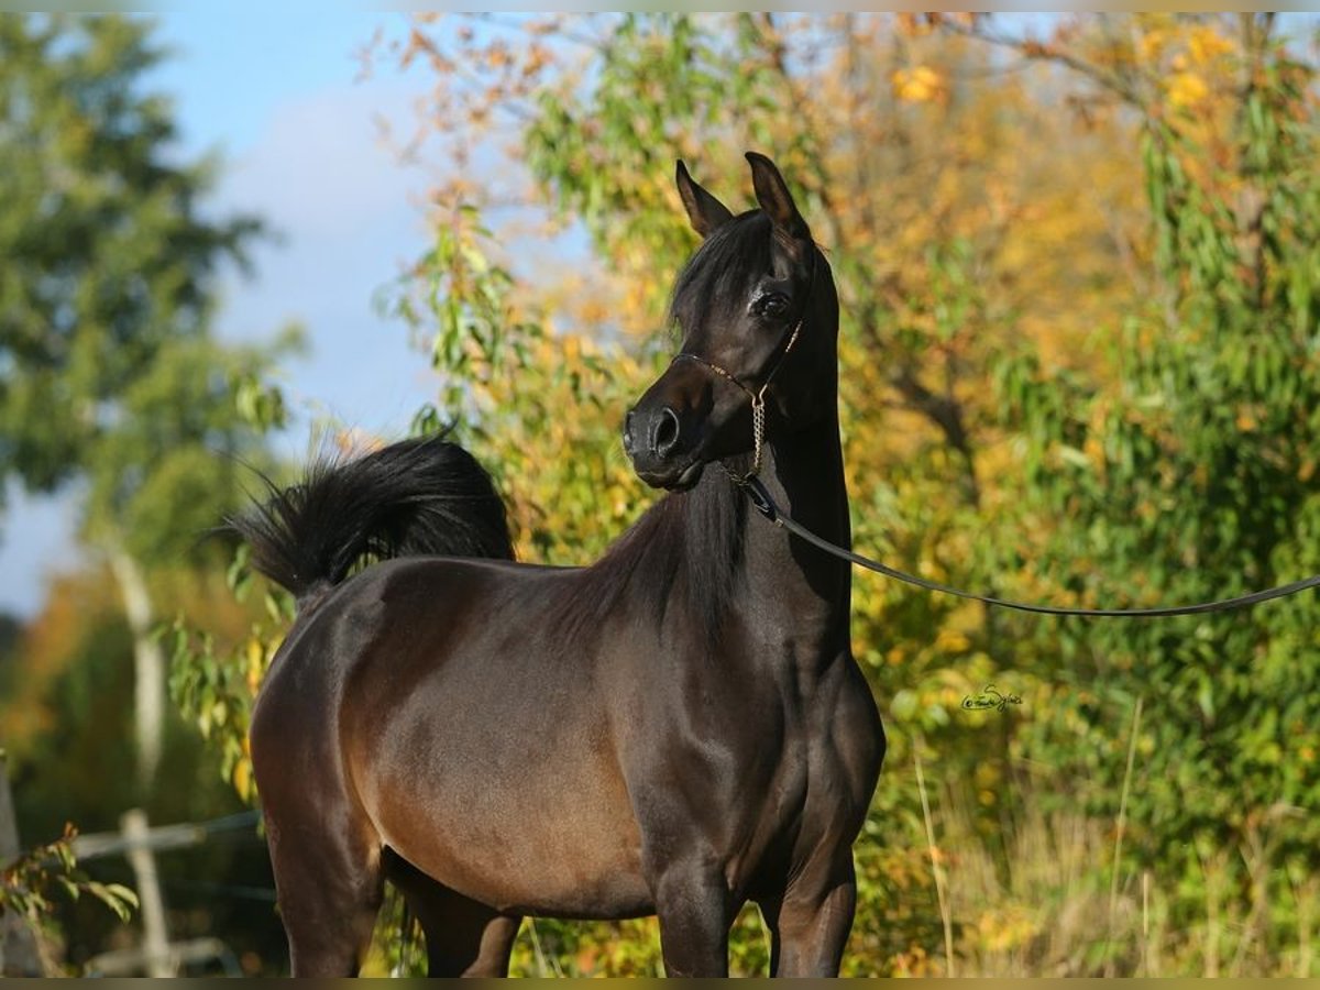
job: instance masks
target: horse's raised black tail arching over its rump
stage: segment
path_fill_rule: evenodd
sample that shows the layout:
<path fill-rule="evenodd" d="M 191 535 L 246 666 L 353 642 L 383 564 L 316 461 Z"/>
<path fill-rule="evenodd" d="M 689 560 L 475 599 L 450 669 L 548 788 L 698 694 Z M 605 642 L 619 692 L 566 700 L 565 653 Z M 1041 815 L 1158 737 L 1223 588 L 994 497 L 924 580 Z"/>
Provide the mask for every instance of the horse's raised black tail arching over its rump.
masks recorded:
<path fill-rule="evenodd" d="M 252 548 L 252 566 L 306 609 L 364 556 L 513 558 L 490 475 L 444 436 L 404 440 L 356 459 L 323 457 L 301 482 L 268 494 L 226 525 Z"/>

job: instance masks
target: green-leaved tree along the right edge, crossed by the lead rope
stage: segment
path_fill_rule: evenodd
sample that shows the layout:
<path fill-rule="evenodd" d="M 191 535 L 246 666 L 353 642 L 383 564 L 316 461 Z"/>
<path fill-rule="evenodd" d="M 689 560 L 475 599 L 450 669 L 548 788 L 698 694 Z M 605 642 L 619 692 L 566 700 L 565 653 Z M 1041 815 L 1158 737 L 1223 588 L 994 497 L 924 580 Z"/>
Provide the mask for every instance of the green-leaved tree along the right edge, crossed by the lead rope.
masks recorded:
<path fill-rule="evenodd" d="M 1152 223 L 1152 293 L 1105 342 L 1118 381 L 1043 389 L 1051 368 L 1034 354 L 1005 370 L 1028 511 L 1059 519 L 1041 572 L 1107 601 L 1205 601 L 1320 570 L 1308 539 L 1320 510 L 1315 66 L 1274 15 L 989 37 L 1067 59 L 1096 100 L 1138 120 Z M 1039 729 L 1100 784 L 1085 793 L 1094 809 L 1114 813 L 1122 766 L 1088 764 L 1088 752 L 1123 747 L 1129 719 L 1114 714 L 1140 705 L 1129 875 L 1181 878 L 1191 896 L 1179 917 L 1205 932 L 1210 974 L 1305 939 L 1303 899 L 1320 867 L 1316 616 L 1313 595 L 1299 595 L 1199 620 L 1060 630 L 1076 665 L 1057 677 L 1094 680 L 1102 701 L 1063 700 L 1068 717 Z M 1241 891 L 1229 902 L 1245 932 L 1236 944 L 1201 916 L 1228 890 Z"/>

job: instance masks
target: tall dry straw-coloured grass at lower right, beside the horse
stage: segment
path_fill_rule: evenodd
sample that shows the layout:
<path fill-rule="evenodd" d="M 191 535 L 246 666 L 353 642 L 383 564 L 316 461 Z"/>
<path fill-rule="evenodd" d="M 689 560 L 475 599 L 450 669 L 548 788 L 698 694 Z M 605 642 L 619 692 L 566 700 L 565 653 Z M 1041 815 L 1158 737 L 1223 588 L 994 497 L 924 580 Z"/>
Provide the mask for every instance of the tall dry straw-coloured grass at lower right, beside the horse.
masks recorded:
<path fill-rule="evenodd" d="M 987 829 L 969 781 L 919 774 L 924 859 L 953 958 L 913 974 L 1320 975 L 1320 878 L 1253 838 L 1197 846 L 1195 875 L 1134 866 L 1123 822 L 1051 801 L 1068 792 L 1059 783 L 1024 775 L 1011 816 Z"/>

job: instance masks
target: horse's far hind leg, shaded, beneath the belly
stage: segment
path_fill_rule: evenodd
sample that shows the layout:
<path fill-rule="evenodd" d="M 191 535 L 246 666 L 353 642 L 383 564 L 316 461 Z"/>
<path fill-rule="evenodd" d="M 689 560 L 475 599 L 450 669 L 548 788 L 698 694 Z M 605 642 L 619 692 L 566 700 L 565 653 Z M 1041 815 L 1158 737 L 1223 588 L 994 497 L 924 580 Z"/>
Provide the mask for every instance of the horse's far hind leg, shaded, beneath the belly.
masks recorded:
<path fill-rule="evenodd" d="M 426 975 L 508 975 L 508 957 L 523 919 L 465 898 L 393 855 L 388 875 L 426 936 Z"/>

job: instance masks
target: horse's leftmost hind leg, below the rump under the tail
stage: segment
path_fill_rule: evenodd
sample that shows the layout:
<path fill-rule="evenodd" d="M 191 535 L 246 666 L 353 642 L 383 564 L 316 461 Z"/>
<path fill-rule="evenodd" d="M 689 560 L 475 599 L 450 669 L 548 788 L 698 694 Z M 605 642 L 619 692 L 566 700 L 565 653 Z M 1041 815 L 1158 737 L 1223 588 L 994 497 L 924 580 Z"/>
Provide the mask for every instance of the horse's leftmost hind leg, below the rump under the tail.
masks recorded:
<path fill-rule="evenodd" d="M 325 821 L 293 829 L 269 808 L 265 820 L 293 975 L 356 975 L 384 896 L 379 849 Z"/>

